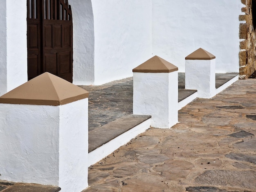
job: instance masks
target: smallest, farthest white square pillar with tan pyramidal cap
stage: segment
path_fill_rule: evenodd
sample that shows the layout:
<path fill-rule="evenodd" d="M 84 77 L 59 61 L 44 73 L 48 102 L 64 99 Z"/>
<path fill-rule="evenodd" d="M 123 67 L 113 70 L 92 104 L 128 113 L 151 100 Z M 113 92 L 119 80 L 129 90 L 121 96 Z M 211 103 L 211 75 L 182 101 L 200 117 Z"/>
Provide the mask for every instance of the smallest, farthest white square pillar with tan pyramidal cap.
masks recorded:
<path fill-rule="evenodd" d="M 199 48 L 185 58 L 185 89 L 198 90 L 198 97 L 216 95 L 215 56 Z"/>

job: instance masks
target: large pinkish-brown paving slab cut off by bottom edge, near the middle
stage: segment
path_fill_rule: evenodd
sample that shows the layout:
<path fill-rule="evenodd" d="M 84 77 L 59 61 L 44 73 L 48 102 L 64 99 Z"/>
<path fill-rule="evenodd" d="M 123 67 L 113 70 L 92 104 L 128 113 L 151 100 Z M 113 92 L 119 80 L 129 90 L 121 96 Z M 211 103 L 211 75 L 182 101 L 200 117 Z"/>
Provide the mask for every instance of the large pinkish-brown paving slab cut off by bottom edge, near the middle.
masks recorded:
<path fill-rule="evenodd" d="M 157 192 L 160 189 L 161 191 L 168 189 L 168 186 L 163 182 L 163 178 L 148 173 L 124 180 L 122 187 L 124 192 Z"/>

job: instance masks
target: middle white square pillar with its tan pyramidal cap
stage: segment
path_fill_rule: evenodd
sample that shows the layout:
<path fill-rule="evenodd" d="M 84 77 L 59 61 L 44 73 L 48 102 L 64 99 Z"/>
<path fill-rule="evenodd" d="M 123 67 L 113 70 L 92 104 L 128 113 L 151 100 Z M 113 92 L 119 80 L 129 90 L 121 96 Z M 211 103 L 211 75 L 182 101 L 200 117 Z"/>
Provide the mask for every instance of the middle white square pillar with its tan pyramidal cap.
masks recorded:
<path fill-rule="evenodd" d="M 151 126 L 178 123 L 178 68 L 154 56 L 133 71 L 133 114 L 151 115 Z"/>

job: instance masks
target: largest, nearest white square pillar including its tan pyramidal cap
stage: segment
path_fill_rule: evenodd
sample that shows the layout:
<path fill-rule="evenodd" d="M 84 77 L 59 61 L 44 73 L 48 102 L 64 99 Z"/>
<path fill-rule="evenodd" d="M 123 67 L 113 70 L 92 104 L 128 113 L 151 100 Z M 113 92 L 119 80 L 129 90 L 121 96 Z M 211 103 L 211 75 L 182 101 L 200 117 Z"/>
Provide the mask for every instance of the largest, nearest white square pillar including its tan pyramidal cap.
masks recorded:
<path fill-rule="evenodd" d="M 44 73 L 0 97 L 0 179 L 88 187 L 88 92 Z"/>

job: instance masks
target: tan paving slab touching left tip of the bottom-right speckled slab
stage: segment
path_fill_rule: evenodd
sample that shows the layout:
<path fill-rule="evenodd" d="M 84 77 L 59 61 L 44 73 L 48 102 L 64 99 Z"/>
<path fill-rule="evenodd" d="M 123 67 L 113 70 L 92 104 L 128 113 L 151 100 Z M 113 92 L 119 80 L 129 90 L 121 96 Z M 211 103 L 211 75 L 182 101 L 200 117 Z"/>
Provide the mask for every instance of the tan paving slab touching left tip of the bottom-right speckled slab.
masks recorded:
<path fill-rule="evenodd" d="M 157 165 L 153 169 L 157 172 L 161 172 L 162 176 L 168 180 L 179 181 L 180 179 L 186 178 L 189 174 L 189 170 L 193 167 L 194 165 L 188 161 L 169 160 L 163 165 Z"/>

